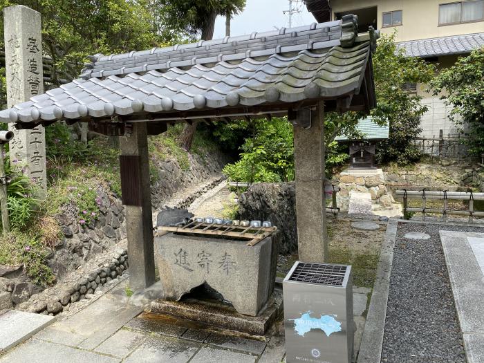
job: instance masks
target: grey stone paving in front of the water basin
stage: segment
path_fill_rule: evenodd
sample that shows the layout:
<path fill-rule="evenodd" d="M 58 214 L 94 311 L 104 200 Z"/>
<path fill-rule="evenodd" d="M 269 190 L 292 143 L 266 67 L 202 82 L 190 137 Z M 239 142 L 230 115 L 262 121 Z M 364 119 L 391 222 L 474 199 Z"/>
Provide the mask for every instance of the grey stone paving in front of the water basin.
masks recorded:
<path fill-rule="evenodd" d="M 142 313 L 125 294 L 121 281 L 75 315 L 33 335 L 0 355 L 0 363 L 278 363 L 285 357 L 283 322 L 266 337 L 249 339 L 189 322 L 163 320 Z M 364 328 L 368 289 L 353 293 L 355 348 Z"/>

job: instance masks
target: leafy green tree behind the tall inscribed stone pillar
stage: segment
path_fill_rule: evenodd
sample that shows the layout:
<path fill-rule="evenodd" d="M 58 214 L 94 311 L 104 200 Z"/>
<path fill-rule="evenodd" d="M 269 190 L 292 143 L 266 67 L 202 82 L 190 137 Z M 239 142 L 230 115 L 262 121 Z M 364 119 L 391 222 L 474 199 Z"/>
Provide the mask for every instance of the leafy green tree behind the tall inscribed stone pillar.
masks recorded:
<path fill-rule="evenodd" d="M 87 55 L 143 50 L 162 43 L 153 32 L 147 0 L 3 0 L 6 6 L 24 5 L 42 17 L 44 55 L 52 59 L 51 84 L 79 75 Z M 3 17 L 0 21 L 3 48 Z"/>

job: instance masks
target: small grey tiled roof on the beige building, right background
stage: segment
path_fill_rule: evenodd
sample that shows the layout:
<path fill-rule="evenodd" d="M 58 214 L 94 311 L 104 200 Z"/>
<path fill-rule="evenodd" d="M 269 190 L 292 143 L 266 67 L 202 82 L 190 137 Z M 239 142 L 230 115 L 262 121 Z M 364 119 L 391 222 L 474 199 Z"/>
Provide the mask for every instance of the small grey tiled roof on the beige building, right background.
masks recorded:
<path fill-rule="evenodd" d="M 408 57 L 437 57 L 439 55 L 465 54 L 484 46 L 484 32 L 402 41 L 397 48 L 403 48 Z"/>

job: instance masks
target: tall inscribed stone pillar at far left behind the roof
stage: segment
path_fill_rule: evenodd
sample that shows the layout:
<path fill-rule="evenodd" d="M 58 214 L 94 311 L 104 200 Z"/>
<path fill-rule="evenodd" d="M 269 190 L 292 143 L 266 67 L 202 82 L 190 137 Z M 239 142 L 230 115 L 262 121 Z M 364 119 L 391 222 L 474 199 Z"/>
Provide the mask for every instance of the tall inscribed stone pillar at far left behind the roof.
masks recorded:
<path fill-rule="evenodd" d="M 42 39 L 40 13 L 26 6 L 3 9 L 5 22 L 5 59 L 7 104 L 26 102 L 30 97 L 44 93 L 42 73 Z M 24 167 L 24 172 L 40 187 L 39 196 L 45 196 L 46 141 L 44 127 L 17 130 L 10 142 L 10 162 Z"/>

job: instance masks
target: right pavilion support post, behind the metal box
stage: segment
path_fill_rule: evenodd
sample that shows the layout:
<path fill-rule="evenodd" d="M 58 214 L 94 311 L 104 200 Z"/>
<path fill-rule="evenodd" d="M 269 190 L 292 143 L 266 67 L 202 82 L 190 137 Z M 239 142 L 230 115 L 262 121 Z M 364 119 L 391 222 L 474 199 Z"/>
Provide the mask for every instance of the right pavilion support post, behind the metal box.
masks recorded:
<path fill-rule="evenodd" d="M 324 262 L 328 257 L 324 193 L 324 103 L 296 111 L 294 155 L 297 246 L 299 260 Z"/>

